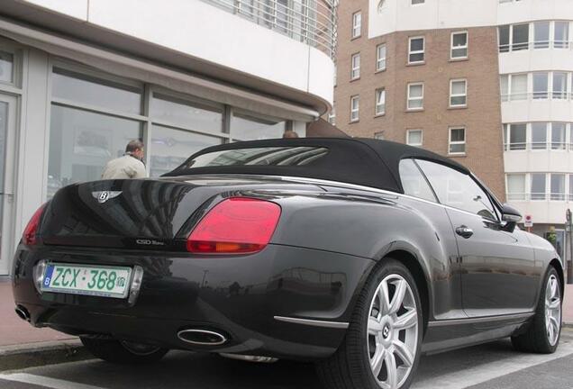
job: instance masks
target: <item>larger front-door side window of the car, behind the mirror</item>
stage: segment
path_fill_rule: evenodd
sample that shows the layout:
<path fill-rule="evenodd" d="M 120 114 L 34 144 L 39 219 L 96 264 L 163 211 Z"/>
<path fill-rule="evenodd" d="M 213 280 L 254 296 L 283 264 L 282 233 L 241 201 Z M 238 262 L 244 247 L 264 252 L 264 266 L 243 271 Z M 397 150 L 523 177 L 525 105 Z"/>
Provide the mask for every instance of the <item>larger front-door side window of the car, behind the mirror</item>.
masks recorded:
<path fill-rule="evenodd" d="M 486 192 L 466 174 L 435 162 L 417 160 L 441 204 L 497 220 L 496 211 Z"/>

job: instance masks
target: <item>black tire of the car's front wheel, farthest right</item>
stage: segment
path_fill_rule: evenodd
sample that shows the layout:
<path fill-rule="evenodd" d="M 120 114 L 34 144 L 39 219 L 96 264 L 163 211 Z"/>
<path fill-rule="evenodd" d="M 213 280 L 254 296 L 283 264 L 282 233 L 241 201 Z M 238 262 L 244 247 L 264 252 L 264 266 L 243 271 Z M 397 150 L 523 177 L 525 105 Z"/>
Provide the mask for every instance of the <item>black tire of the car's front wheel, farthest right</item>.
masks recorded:
<path fill-rule="evenodd" d="M 559 330 L 557 335 L 557 341 L 555 344 L 551 344 L 549 330 L 547 329 L 545 319 L 546 319 L 546 290 L 550 279 L 554 277 L 557 280 L 557 290 L 559 291 L 560 304 L 563 303 L 561 297 L 561 285 L 559 280 L 559 274 L 554 267 L 550 267 L 545 275 L 543 284 L 541 284 L 541 293 L 539 296 L 539 301 L 537 303 L 537 309 L 535 311 L 535 316 L 529 328 L 526 332 L 521 335 L 512 337 L 512 344 L 514 348 L 518 351 L 531 352 L 537 354 L 552 354 L 555 352 L 559 346 L 559 338 L 561 336 L 561 316 L 559 315 Z M 560 308 L 560 307 L 559 307 Z"/>

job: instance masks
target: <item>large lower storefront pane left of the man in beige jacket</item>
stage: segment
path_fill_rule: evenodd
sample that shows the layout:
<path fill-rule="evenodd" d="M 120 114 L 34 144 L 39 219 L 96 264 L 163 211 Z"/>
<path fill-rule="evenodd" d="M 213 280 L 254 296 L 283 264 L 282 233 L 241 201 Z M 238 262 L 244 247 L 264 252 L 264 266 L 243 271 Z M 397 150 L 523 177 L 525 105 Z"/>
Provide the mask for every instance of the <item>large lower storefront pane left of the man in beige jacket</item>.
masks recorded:
<path fill-rule="evenodd" d="M 65 185 L 100 179 L 107 161 L 141 133 L 141 122 L 52 105 L 48 198 Z"/>

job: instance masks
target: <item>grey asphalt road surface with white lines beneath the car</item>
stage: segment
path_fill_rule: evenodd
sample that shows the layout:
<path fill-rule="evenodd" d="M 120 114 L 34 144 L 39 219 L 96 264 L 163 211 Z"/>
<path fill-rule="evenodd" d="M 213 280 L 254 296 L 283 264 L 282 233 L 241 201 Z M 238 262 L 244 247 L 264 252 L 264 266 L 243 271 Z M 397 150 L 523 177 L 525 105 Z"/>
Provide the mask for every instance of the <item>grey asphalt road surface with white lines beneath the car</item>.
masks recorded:
<path fill-rule="evenodd" d="M 423 357 L 413 388 L 573 389 L 573 330 L 553 355 L 515 352 L 508 340 Z M 0 375 L 3 389 L 320 388 L 314 366 L 261 365 L 215 355 L 171 352 L 153 366 L 90 360 Z"/>

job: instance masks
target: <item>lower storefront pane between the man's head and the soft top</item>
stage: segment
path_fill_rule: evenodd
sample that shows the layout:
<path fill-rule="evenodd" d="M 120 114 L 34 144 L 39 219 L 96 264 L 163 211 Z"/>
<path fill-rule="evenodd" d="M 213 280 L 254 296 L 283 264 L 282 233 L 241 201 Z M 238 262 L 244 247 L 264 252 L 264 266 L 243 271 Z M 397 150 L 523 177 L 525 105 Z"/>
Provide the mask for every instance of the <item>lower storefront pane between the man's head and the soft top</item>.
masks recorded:
<path fill-rule="evenodd" d="M 221 144 L 221 138 L 154 125 L 151 131 L 150 176 L 161 176 L 196 151 Z"/>

